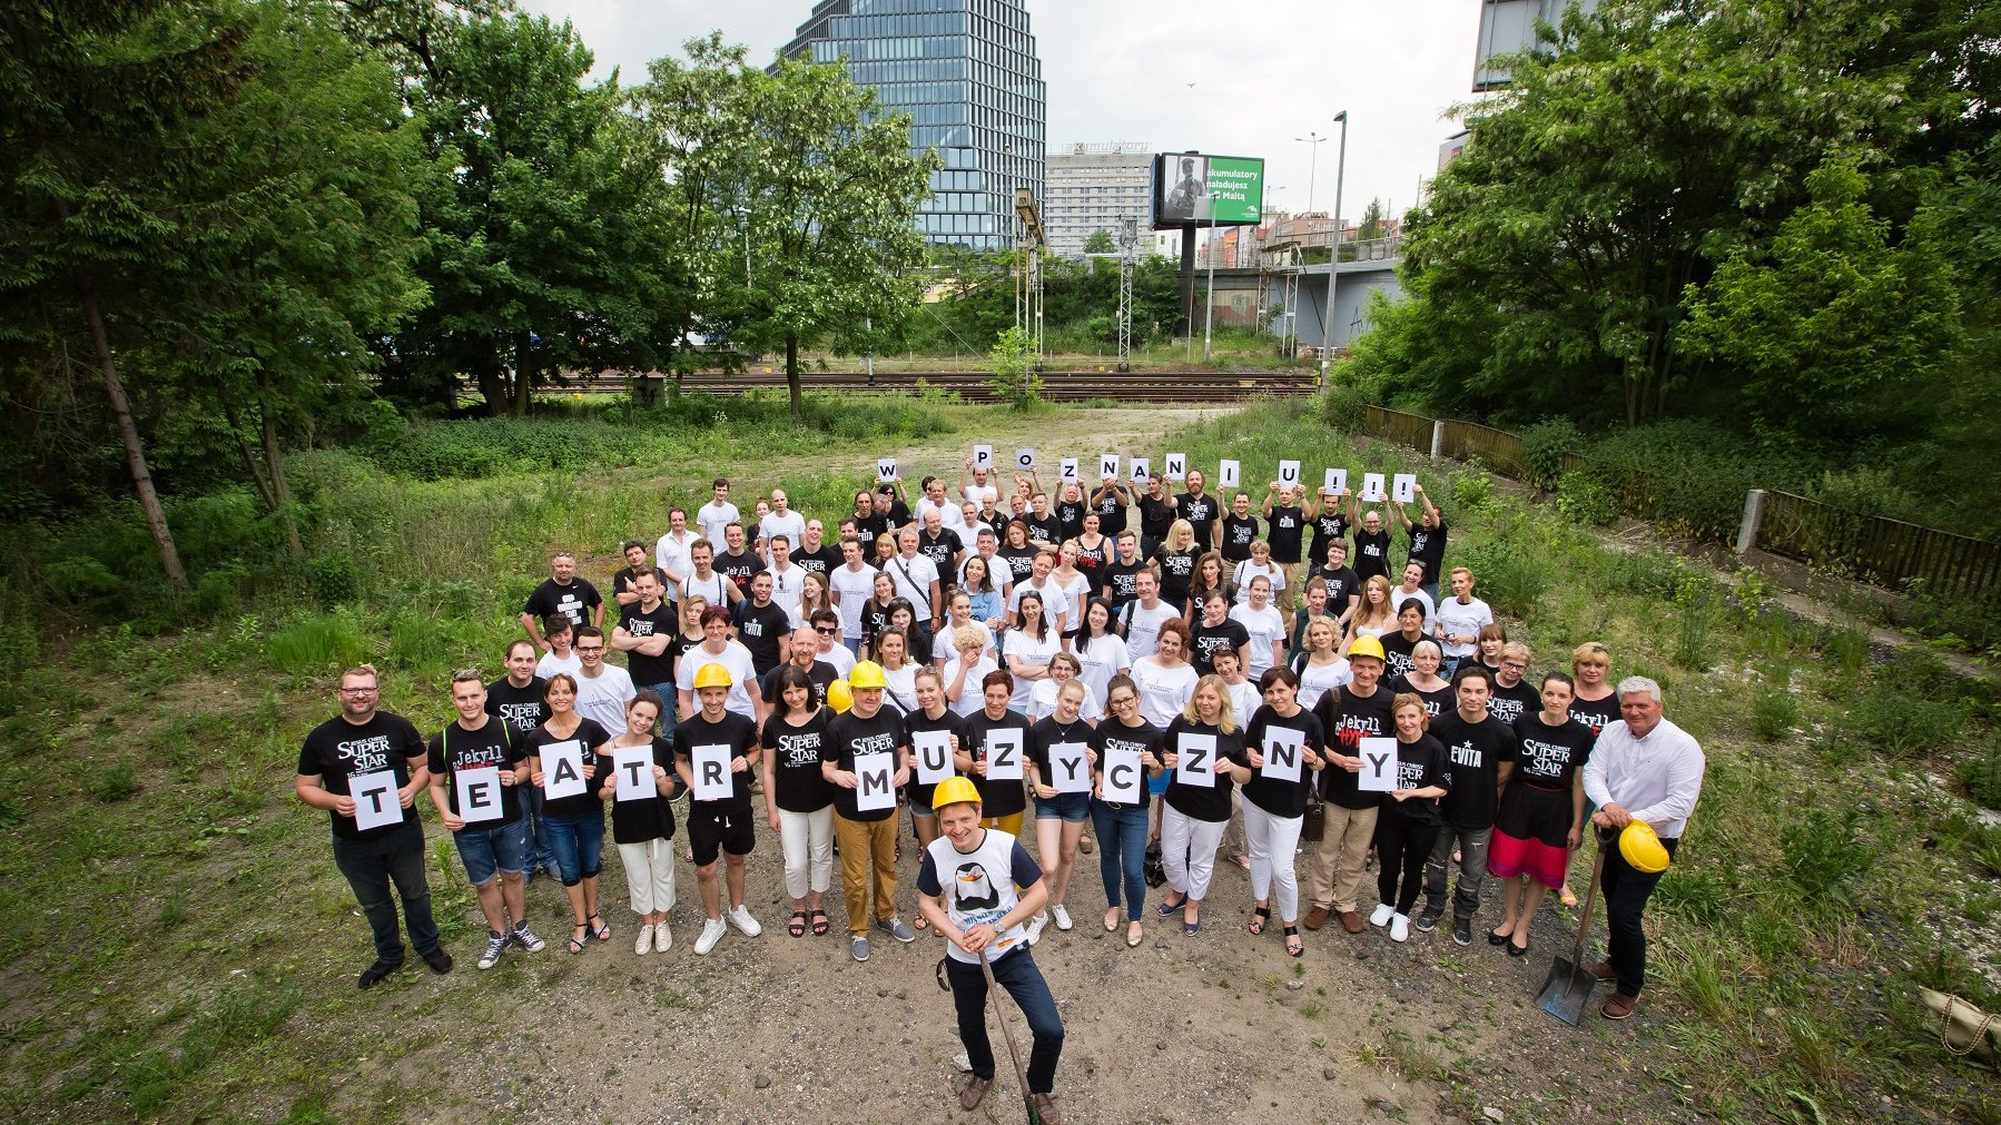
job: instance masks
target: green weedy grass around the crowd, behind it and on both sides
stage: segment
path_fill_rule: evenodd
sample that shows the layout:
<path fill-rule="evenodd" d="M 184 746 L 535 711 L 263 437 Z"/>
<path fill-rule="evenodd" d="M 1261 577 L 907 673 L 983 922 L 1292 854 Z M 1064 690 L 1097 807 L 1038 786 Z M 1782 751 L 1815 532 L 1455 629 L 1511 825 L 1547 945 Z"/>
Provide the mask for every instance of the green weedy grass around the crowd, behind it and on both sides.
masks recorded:
<path fill-rule="evenodd" d="M 1575 1043 L 1551 1047 L 1575 1059 L 1531 1067 L 1535 1081 L 1455 1053 L 1451 1033 L 1323 1033 L 1301 1051 L 1401 1073 L 1473 1113 L 1505 1107 L 1511 1121 L 1569 1121 L 1603 1075 L 1621 1075 L 1645 1107 L 1613 1119 L 2001 1123 L 1995 1067 L 1945 1051 L 1913 993 L 1923 983 L 2001 1011 L 2001 827 L 1969 801 L 2001 805 L 1993 683 L 1949 675 L 1923 649 L 1871 651 L 1859 627 L 1789 619 L 1755 575 L 1729 589 L 1669 554 L 1611 550 L 1479 470 L 1439 478 L 1405 450 L 1359 452 L 1305 402 L 1159 414 L 1153 428 L 1141 410 L 934 410 L 932 426 L 948 426 L 938 436 L 842 442 L 766 426 L 604 468 L 524 470 L 528 458 L 470 480 L 300 458 L 326 504 L 312 550 L 352 565 L 344 597 L 324 605 L 302 583 L 162 639 L 100 629 L 48 645 L 24 673 L 30 703 L 0 719 L 0 1113 L 482 1117 L 480 1099 L 448 1089 L 426 1035 L 502 1019 L 512 1009 L 496 991 L 352 989 L 366 927 L 324 819 L 290 797 L 300 737 L 332 715 L 332 673 L 378 663 L 386 707 L 436 731 L 450 715 L 444 677 L 496 669 L 552 546 L 578 550 L 600 581 L 620 538 L 650 540 L 666 502 L 698 502 L 712 472 L 738 496 L 782 484 L 802 510 L 834 516 L 878 452 L 896 450 L 914 476 L 992 440 L 1049 454 L 1177 448 L 1205 466 L 1237 456 L 1251 480 L 1279 456 L 1309 470 L 1413 468 L 1449 512 L 1449 565 L 1481 575 L 1537 669 L 1599 639 L 1615 675 L 1665 685 L 1669 717 L 1709 751 L 1703 805 L 1649 913 L 1657 983 L 1631 1029 L 1551 1039 Z M 472 895 L 436 825 L 430 835 L 434 907 L 466 951 Z M 688 955 L 676 945 L 672 957 Z M 532 995 L 572 973 L 544 965 L 522 983 Z M 472 975 L 470 957 L 460 973 Z M 1323 1005 L 1343 1003 L 1297 1015 L 1331 1021 Z M 1507 1019 L 1491 1007 L 1471 1005 L 1469 1019 Z M 418 1053 L 426 1067 L 402 1063 Z"/>

